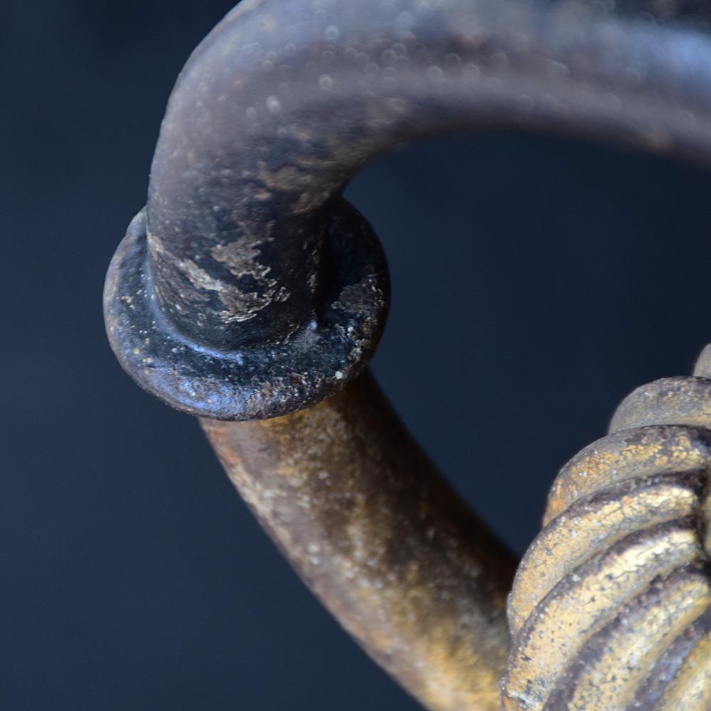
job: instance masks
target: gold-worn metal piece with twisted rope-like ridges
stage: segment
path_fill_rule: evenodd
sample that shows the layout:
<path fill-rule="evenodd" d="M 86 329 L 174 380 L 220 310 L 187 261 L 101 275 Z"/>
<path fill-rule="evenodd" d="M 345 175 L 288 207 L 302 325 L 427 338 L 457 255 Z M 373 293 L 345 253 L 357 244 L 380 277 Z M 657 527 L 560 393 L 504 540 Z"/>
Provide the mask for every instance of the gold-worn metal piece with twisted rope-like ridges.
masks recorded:
<path fill-rule="evenodd" d="M 508 606 L 506 710 L 711 707 L 711 371 L 635 390 L 553 484 Z"/>

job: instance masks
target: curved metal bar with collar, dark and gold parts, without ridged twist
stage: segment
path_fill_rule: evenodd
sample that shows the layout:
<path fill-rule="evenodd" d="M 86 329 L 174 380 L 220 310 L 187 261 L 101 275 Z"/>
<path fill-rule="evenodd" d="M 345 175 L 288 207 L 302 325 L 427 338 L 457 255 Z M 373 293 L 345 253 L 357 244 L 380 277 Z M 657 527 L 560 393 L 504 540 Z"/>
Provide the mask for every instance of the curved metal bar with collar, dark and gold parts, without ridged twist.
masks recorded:
<path fill-rule="evenodd" d="M 660 23 L 662 5 L 243 0 L 178 80 L 109 269 L 112 346 L 174 407 L 255 419 L 331 395 L 203 427 L 314 592 L 433 709 L 498 707 L 513 562 L 372 385 L 336 392 L 388 290 L 341 188 L 402 141 L 492 126 L 709 161 L 710 9 Z"/>

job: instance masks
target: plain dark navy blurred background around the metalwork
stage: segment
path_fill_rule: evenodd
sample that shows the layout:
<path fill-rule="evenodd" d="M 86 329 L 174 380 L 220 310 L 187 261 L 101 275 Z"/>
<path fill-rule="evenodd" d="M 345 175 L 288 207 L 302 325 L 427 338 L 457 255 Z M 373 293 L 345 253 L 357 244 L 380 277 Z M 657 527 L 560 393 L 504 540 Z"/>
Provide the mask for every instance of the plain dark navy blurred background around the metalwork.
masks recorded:
<path fill-rule="evenodd" d="M 0 707 L 417 705 L 258 528 L 196 421 L 145 395 L 101 291 L 173 81 L 232 0 L 0 8 Z M 708 176 L 514 134 L 384 156 L 348 198 L 392 270 L 373 370 L 517 552 L 560 466 L 711 338 Z"/>

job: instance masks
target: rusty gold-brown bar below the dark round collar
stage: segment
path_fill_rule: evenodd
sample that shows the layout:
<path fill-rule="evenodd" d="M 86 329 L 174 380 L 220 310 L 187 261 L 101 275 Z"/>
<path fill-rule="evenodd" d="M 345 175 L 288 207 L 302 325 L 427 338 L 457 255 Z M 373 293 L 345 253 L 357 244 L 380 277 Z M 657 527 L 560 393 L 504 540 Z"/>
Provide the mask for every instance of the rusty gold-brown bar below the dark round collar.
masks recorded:
<path fill-rule="evenodd" d="M 294 415 L 201 424 L 264 529 L 375 661 L 431 709 L 499 708 L 515 561 L 367 372 Z"/>

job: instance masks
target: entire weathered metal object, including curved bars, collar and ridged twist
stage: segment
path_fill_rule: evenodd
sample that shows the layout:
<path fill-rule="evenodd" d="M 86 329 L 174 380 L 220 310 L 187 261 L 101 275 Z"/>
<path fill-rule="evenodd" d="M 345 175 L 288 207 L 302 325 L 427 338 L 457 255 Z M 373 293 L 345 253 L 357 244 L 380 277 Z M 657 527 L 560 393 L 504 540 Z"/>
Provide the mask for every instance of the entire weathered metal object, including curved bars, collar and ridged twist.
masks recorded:
<path fill-rule="evenodd" d="M 711 347 L 562 470 L 507 668 L 510 555 L 359 377 L 389 284 L 341 189 L 488 127 L 709 164 L 710 22 L 693 0 L 243 0 L 173 91 L 107 276 L 112 347 L 202 418 L 301 577 L 429 708 L 493 711 L 505 668 L 506 710 L 711 707 Z"/>

